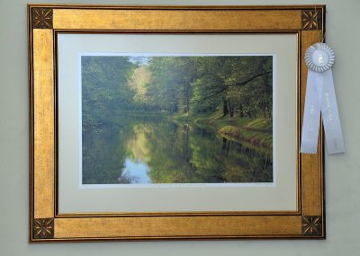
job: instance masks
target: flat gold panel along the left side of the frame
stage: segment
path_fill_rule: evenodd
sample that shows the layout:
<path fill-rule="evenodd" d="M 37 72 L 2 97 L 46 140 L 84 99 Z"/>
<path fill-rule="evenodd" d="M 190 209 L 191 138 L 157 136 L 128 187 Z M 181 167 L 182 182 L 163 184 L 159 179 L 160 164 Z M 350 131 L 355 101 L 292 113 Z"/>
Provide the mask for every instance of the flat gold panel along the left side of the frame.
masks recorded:
<path fill-rule="evenodd" d="M 33 31 L 34 217 L 54 216 L 55 119 L 52 30 Z"/>

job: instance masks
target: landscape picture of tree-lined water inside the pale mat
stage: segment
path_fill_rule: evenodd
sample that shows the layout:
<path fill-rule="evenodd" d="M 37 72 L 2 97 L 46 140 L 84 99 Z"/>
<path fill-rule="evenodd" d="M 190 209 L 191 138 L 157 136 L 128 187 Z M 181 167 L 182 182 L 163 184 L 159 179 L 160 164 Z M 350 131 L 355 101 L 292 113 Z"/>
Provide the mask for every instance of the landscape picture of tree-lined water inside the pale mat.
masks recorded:
<path fill-rule="evenodd" d="M 271 55 L 80 56 L 82 184 L 274 181 Z"/>

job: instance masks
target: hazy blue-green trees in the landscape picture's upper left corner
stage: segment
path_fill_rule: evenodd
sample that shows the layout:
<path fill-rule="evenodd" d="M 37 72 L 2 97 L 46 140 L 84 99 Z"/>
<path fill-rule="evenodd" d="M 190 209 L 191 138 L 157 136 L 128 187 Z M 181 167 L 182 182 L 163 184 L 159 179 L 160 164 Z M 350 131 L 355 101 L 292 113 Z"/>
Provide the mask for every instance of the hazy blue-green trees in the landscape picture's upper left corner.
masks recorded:
<path fill-rule="evenodd" d="M 83 129 L 108 122 L 118 110 L 132 109 L 128 86 L 135 65 L 129 57 L 81 57 Z"/>

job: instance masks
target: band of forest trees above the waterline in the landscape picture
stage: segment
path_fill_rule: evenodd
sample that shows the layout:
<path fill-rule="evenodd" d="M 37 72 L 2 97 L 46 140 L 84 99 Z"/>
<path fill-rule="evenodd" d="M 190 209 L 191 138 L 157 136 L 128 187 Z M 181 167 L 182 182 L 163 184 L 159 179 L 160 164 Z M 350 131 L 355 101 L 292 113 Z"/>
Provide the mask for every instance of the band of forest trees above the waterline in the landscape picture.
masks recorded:
<path fill-rule="evenodd" d="M 272 56 L 83 56 L 85 122 L 118 111 L 272 119 Z"/>

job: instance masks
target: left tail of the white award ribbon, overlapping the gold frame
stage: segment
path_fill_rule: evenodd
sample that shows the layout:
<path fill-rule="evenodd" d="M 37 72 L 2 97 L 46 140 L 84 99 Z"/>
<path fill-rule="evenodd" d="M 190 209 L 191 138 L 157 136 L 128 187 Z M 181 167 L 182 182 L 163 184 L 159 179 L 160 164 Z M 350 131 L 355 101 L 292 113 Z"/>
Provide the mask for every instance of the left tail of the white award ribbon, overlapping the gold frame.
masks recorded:
<path fill-rule="evenodd" d="M 302 145 L 300 152 L 316 154 L 320 128 L 320 95 L 323 79 L 309 70 L 306 83 L 305 108 L 302 119 Z"/>

